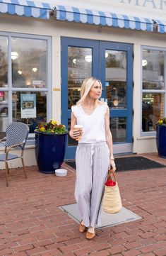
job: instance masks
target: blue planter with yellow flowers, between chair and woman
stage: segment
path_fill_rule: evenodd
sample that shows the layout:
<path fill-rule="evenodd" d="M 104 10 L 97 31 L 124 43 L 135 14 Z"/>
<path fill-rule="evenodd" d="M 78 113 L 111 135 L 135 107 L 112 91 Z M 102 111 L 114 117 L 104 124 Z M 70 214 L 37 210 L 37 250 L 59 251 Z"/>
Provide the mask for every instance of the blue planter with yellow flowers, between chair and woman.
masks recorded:
<path fill-rule="evenodd" d="M 35 157 L 40 172 L 54 173 L 61 168 L 66 150 L 67 130 L 53 121 L 38 123 L 35 128 Z"/>

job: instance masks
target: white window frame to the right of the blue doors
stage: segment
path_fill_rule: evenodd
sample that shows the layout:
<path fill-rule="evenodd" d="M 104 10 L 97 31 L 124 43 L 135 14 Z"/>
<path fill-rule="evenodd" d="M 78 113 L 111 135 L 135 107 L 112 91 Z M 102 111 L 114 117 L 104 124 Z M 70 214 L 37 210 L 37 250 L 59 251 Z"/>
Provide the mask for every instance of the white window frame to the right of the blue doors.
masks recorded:
<path fill-rule="evenodd" d="M 164 93 L 164 99 L 165 99 L 165 106 L 164 106 L 164 113 L 166 113 L 166 77 L 164 81 L 164 87 L 165 89 L 161 90 L 155 90 L 155 89 L 143 89 L 143 66 L 142 66 L 142 60 L 143 60 L 143 50 L 162 50 L 165 52 L 165 59 L 164 59 L 164 77 L 166 75 L 166 48 L 160 48 L 160 47 L 153 47 L 153 46 L 147 46 L 147 45 L 141 45 L 141 118 L 140 118 L 140 130 L 141 130 L 141 137 L 155 137 L 156 131 L 147 131 L 143 132 L 142 130 L 142 114 L 143 114 L 143 93 Z"/>

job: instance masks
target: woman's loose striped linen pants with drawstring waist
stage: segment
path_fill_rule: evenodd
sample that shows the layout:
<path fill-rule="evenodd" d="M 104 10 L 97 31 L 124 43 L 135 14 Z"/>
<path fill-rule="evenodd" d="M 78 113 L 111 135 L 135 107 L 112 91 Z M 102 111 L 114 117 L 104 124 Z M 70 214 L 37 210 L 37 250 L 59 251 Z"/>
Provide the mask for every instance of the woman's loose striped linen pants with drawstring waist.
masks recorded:
<path fill-rule="evenodd" d="M 78 144 L 75 198 L 86 227 L 101 225 L 101 201 L 108 168 L 106 142 Z"/>

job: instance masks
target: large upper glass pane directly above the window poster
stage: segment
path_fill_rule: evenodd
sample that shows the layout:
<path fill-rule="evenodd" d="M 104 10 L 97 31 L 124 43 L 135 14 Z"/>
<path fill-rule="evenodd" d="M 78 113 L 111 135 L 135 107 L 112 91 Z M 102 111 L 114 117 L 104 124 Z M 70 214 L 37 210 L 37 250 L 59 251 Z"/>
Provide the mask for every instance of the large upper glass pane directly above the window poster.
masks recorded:
<path fill-rule="evenodd" d="M 47 41 L 11 38 L 12 86 L 47 87 Z"/>

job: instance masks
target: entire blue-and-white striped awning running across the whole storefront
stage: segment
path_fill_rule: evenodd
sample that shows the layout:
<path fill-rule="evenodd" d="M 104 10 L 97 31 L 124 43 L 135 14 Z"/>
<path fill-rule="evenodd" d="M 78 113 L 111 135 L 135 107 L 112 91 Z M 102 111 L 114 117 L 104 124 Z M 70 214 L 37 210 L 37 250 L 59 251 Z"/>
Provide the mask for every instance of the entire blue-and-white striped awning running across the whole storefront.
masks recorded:
<path fill-rule="evenodd" d="M 166 21 L 143 18 L 108 11 L 96 11 L 72 6 L 61 6 L 28 0 L 0 0 L 0 13 L 34 18 L 50 18 L 50 11 L 56 10 L 57 20 L 73 21 L 115 28 L 130 28 L 153 32 L 154 23 L 158 25 L 158 33 L 166 33 Z"/>

